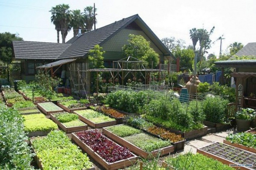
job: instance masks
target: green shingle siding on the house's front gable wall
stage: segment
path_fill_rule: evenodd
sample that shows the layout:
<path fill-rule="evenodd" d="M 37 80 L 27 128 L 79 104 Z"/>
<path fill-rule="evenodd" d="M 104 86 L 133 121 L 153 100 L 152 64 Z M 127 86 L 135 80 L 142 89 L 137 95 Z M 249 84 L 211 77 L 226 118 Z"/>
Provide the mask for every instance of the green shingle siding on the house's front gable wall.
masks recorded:
<path fill-rule="evenodd" d="M 121 52 L 123 45 L 127 44 L 127 40 L 129 39 L 129 34 L 142 35 L 147 41 L 150 41 L 150 39 L 147 37 L 147 35 L 143 31 L 123 29 L 119 31 L 114 37 L 106 41 L 104 44 L 101 44 L 101 46 L 103 47 L 103 50 Z M 150 47 L 153 48 L 157 54 L 159 55 L 162 54 L 162 52 L 158 49 L 158 47 L 152 42 L 150 43 Z"/>

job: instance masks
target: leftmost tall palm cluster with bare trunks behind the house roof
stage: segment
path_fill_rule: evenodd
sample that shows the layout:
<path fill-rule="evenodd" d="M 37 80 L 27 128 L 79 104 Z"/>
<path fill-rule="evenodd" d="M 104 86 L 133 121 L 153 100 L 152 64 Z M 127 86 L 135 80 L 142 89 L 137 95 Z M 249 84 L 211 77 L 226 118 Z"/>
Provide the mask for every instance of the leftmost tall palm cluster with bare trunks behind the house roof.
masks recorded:
<path fill-rule="evenodd" d="M 71 11 L 69 10 L 68 4 L 56 5 L 50 10 L 51 22 L 55 25 L 57 30 L 57 42 L 58 42 L 58 33 L 61 32 L 62 43 L 65 43 L 68 31 L 71 29 L 70 21 L 72 19 Z M 58 42 L 59 43 L 59 42 Z"/>

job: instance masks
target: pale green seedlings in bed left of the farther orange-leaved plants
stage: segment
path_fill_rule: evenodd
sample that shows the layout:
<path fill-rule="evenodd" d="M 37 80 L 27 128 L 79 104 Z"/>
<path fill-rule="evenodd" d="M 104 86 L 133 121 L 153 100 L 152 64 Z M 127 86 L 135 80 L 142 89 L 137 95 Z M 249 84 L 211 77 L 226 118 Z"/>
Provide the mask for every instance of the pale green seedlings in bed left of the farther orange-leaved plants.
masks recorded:
<path fill-rule="evenodd" d="M 101 123 L 101 122 L 110 122 L 113 121 L 115 119 L 108 117 L 100 112 L 96 112 L 94 110 L 91 109 L 87 109 L 87 110 L 78 110 L 75 111 L 77 114 L 91 120 L 94 123 Z"/>

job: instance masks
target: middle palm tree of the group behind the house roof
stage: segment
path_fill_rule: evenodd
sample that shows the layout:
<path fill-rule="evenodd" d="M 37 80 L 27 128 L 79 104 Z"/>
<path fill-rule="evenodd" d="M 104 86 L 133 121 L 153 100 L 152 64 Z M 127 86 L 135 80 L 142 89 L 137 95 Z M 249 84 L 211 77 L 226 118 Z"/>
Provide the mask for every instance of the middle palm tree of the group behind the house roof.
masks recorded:
<path fill-rule="evenodd" d="M 79 27 L 84 28 L 85 18 L 79 9 L 72 11 L 72 20 L 70 22 L 71 27 L 73 27 L 74 37 L 78 34 Z"/>

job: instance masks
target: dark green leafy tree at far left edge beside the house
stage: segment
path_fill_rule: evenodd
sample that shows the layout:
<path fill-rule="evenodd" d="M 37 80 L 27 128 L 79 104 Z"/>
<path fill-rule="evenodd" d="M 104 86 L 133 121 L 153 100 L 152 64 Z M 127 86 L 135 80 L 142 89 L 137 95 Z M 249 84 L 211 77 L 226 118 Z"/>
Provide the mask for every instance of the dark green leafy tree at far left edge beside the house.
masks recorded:
<path fill-rule="evenodd" d="M 9 32 L 0 33 L 0 60 L 4 63 L 12 62 L 12 41 L 14 40 L 23 41 L 23 39 L 19 37 L 19 34 Z"/>

